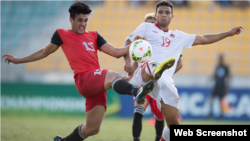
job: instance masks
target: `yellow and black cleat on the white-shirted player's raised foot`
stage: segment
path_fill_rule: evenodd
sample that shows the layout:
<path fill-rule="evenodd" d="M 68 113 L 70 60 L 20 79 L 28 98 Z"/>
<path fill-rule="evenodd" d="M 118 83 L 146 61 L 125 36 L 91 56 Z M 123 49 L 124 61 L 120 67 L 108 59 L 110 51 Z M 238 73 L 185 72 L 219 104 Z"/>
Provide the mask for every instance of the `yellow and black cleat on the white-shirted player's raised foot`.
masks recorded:
<path fill-rule="evenodd" d="M 154 73 L 153 73 L 153 77 L 154 79 L 159 79 L 162 75 L 162 73 L 166 70 L 171 68 L 175 63 L 175 58 L 169 58 L 167 60 L 165 60 L 163 63 L 161 63 L 160 65 L 158 65 L 155 69 L 154 69 Z"/>

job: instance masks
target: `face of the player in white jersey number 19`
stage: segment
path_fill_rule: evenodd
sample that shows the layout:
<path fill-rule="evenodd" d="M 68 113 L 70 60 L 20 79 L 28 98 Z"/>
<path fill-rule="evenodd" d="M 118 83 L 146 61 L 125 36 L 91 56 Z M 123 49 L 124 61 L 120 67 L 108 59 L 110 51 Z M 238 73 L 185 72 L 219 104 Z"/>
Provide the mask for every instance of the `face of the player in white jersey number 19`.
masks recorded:
<path fill-rule="evenodd" d="M 171 12 L 171 7 L 169 6 L 159 6 L 157 8 L 156 22 L 160 27 L 168 27 L 174 15 Z"/>

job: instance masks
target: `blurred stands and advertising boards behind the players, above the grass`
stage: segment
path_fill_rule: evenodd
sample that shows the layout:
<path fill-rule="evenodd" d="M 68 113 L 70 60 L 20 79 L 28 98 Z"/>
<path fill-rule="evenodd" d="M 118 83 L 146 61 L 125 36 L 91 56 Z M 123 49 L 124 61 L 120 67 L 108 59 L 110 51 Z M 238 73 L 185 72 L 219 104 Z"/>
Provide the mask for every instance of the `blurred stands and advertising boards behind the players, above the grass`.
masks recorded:
<path fill-rule="evenodd" d="M 125 38 L 142 22 L 147 13 L 155 13 L 158 0 L 79 0 L 90 5 L 87 30 L 98 31 L 109 43 L 122 47 Z M 74 0 L 0 0 L 0 55 L 23 57 L 44 47 L 58 28 L 69 29 L 69 6 Z M 171 0 L 174 15 L 170 30 L 189 34 L 220 33 L 235 26 L 240 35 L 218 43 L 183 50 L 183 68 L 173 76 L 180 95 L 182 120 L 206 120 L 209 96 L 214 82 L 211 76 L 218 55 L 224 54 L 232 81 L 225 97 L 222 120 L 250 122 L 250 1 L 249 0 Z M 98 52 L 101 68 L 123 70 L 123 59 Z M 136 85 L 134 79 L 131 83 Z M 131 96 L 108 90 L 106 117 L 132 118 Z M 28 64 L 0 61 L 0 115 L 84 116 L 85 99 L 78 94 L 61 49 L 47 58 Z M 214 101 L 212 120 L 223 112 Z M 147 108 L 144 116 L 152 117 Z M 132 123 L 131 123 L 132 124 Z"/>

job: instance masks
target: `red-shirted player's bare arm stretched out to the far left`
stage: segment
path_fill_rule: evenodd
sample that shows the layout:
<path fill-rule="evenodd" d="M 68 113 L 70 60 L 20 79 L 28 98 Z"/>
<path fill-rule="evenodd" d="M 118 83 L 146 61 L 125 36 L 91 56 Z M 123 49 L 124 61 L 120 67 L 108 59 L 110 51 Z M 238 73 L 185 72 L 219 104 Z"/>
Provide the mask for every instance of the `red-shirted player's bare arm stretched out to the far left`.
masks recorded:
<path fill-rule="evenodd" d="M 17 58 L 11 54 L 4 54 L 2 58 L 5 58 L 5 63 L 13 63 L 13 64 L 21 64 L 21 63 L 28 63 L 28 62 L 33 62 L 37 60 L 41 60 L 51 53 L 55 52 L 59 48 L 58 45 L 49 43 L 47 44 L 44 48 L 26 56 L 23 58 Z"/>

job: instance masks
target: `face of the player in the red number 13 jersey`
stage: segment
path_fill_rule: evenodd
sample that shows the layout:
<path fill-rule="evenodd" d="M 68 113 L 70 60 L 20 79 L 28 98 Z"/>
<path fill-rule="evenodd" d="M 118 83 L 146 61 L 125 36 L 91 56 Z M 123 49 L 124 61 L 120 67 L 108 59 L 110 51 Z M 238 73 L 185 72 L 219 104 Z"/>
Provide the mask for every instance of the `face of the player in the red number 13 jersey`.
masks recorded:
<path fill-rule="evenodd" d="M 88 14 L 79 14 L 76 15 L 74 20 L 70 18 L 72 31 L 77 34 L 83 34 L 87 26 L 88 17 Z"/>

